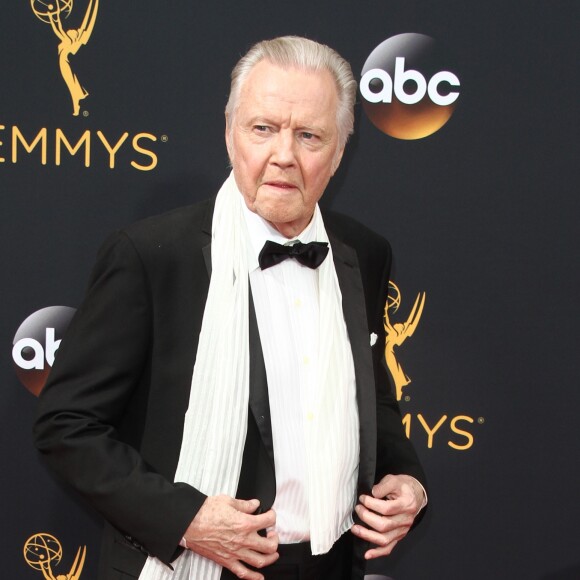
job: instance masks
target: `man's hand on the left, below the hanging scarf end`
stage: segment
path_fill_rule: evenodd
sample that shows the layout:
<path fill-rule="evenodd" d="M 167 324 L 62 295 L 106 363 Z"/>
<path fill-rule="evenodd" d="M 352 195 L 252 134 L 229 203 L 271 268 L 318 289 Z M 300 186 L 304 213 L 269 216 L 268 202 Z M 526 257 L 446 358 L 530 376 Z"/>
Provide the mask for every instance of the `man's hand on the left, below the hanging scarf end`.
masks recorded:
<path fill-rule="evenodd" d="M 187 547 L 231 570 L 238 578 L 264 580 L 254 568 L 269 566 L 278 559 L 278 534 L 258 535 L 276 523 L 274 510 L 253 514 L 260 502 L 233 499 L 227 495 L 208 497 L 185 532 Z"/>

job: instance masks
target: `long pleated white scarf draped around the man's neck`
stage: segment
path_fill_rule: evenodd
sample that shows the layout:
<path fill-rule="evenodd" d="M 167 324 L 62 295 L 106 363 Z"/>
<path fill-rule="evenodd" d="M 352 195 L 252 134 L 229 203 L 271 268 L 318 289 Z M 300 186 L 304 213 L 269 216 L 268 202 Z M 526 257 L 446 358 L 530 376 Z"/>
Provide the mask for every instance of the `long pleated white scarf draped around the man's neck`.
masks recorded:
<path fill-rule="evenodd" d="M 212 275 L 193 370 L 189 407 L 175 481 L 206 495 L 235 497 L 246 439 L 249 399 L 248 233 L 243 197 L 233 174 L 220 189 L 212 222 Z M 319 214 L 320 210 L 316 208 Z M 318 215 L 316 239 L 328 241 Z M 358 455 L 347 440 L 344 424 L 352 400 L 345 382 L 352 354 L 342 313 L 342 297 L 332 249 L 319 271 L 320 380 L 315 425 L 305 424 L 314 554 L 327 552 L 346 531 L 351 518 L 340 519 L 336 498 L 341 472 Z M 350 367 L 348 365 L 351 365 Z M 351 394 L 352 395 L 352 394 Z M 358 425 L 357 425 L 358 427 Z M 351 477 L 355 498 L 356 477 Z M 219 580 L 221 566 L 186 550 L 172 563 L 174 571 L 149 557 L 139 580 Z"/>

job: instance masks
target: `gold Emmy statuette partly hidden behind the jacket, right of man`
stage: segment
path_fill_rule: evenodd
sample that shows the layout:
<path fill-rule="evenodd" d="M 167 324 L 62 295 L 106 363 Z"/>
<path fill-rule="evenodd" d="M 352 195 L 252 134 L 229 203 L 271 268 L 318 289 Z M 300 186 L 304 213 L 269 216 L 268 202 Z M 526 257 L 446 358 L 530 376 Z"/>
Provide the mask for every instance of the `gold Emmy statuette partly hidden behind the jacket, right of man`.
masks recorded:
<path fill-rule="evenodd" d="M 421 319 L 421 314 L 423 313 L 423 307 L 425 306 L 425 292 L 419 293 L 411 314 L 407 318 L 407 322 L 401 323 L 397 322 L 391 324 L 389 320 L 389 310 L 394 314 L 399 309 L 401 304 L 401 292 L 393 282 L 389 282 L 389 292 L 387 303 L 385 304 L 385 316 L 383 319 L 385 332 L 387 336 L 385 338 L 385 360 L 387 361 L 387 368 L 393 377 L 395 383 L 395 389 L 397 392 L 397 401 L 401 400 L 403 396 L 403 387 L 411 382 L 411 379 L 405 374 L 403 368 L 397 361 L 395 356 L 395 347 L 401 346 L 407 338 L 413 336 L 419 320 Z"/>

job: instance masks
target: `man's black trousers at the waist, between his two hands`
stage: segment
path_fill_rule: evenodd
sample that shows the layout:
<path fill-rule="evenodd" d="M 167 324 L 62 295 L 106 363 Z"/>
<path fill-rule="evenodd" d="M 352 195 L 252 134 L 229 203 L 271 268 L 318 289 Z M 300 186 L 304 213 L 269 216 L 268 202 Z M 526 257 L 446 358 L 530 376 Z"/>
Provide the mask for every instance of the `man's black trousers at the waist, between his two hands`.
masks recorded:
<path fill-rule="evenodd" d="M 280 558 L 271 566 L 259 570 L 266 580 L 350 580 L 352 567 L 352 534 L 344 533 L 332 549 L 313 556 L 310 544 L 281 544 Z M 251 568 L 251 566 L 248 566 Z M 221 580 L 235 580 L 224 570 Z"/>

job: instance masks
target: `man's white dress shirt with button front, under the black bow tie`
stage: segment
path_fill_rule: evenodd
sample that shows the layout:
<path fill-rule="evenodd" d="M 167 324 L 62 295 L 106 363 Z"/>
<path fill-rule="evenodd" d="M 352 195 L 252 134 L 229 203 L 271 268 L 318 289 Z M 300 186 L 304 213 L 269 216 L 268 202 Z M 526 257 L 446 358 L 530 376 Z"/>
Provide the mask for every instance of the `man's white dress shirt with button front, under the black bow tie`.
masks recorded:
<path fill-rule="evenodd" d="M 264 353 L 272 422 L 276 473 L 275 530 L 280 543 L 308 541 L 310 511 L 307 490 L 305 425 L 315 420 L 309 397 L 316 391 L 319 307 L 318 270 L 302 266 L 294 259 L 261 270 L 258 255 L 266 240 L 279 244 L 314 241 L 314 220 L 298 236 L 287 239 L 268 222 L 245 208 L 249 232 L 249 277 L 258 330 Z M 330 259 L 327 258 L 327 259 Z M 354 363 L 342 388 L 352 394 L 356 410 Z M 345 429 L 358 450 L 358 412 Z M 346 470 L 345 486 L 353 485 L 358 475 L 358 452 Z M 347 489 L 344 487 L 343 489 Z M 356 486 L 355 486 L 356 489 Z M 339 506 L 340 520 L 351 520 L 355 498 Z"/>

